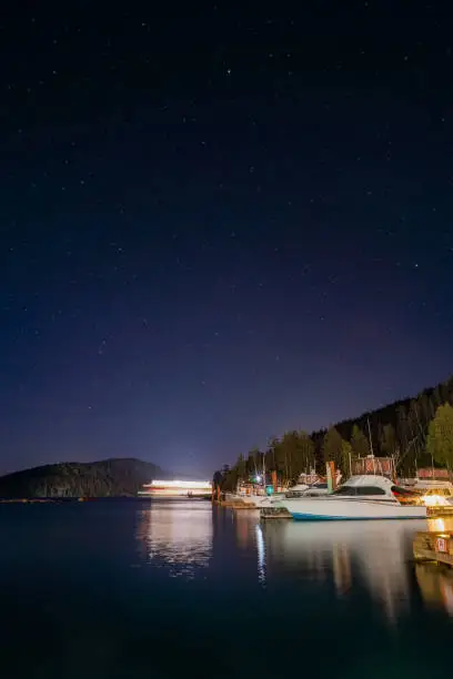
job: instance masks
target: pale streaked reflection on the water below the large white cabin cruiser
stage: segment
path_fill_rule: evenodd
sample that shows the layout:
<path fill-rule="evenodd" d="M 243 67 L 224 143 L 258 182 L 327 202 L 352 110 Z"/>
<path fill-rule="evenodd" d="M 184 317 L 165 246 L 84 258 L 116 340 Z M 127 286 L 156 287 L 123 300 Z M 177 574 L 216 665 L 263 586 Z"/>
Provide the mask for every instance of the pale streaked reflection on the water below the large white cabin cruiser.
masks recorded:
<path fill-rule="evenodd" d="M 409 606 L 412 539 L 423 529 L 425 521 L 269 523 L 263 526 L 268 578 L 275 568 L 292 577 L 331 580 L 338 597 L 359 581 L 394 620 Z"/>

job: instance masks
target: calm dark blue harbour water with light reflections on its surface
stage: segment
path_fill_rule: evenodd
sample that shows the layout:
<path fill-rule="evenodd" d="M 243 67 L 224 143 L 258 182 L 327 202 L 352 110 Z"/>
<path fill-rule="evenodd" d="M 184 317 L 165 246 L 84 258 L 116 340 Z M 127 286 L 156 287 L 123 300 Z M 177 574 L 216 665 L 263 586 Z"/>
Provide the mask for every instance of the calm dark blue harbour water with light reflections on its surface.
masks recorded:
<path fill-rule="evenodd" d="M 411 564 L 425 525 L 1 505 L 1 677 L 450 672 L 453 575 Z"/>

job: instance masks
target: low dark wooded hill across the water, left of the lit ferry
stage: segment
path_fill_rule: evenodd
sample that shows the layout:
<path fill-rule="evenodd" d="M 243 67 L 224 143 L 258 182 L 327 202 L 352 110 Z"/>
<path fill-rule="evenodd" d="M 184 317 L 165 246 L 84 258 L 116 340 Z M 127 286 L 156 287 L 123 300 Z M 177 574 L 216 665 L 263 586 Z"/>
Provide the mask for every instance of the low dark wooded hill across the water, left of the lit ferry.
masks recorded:
<path fill-rule="evenodd" d="M 174 475 L 135 458 L 59 463 L 0 477 L 0 498 L 130 497 L 153 478 Z"/>

